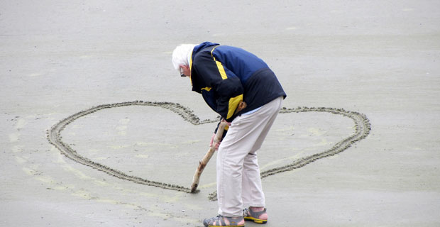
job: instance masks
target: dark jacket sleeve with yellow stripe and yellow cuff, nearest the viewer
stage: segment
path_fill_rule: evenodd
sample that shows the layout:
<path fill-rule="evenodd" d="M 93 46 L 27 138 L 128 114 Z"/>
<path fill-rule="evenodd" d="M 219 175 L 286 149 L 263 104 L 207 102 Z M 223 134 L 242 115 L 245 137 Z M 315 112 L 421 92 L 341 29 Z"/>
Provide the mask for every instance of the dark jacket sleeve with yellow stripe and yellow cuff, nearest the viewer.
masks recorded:
<path fill-rule="evenodd" d="M 193 63 L 194 70 L 216 93 L 216 112 L 231 122 L 238 104 L 243 100 L 240 79 L 211 55 L 198 55 L 194 62 L 197 62 Z"/>

